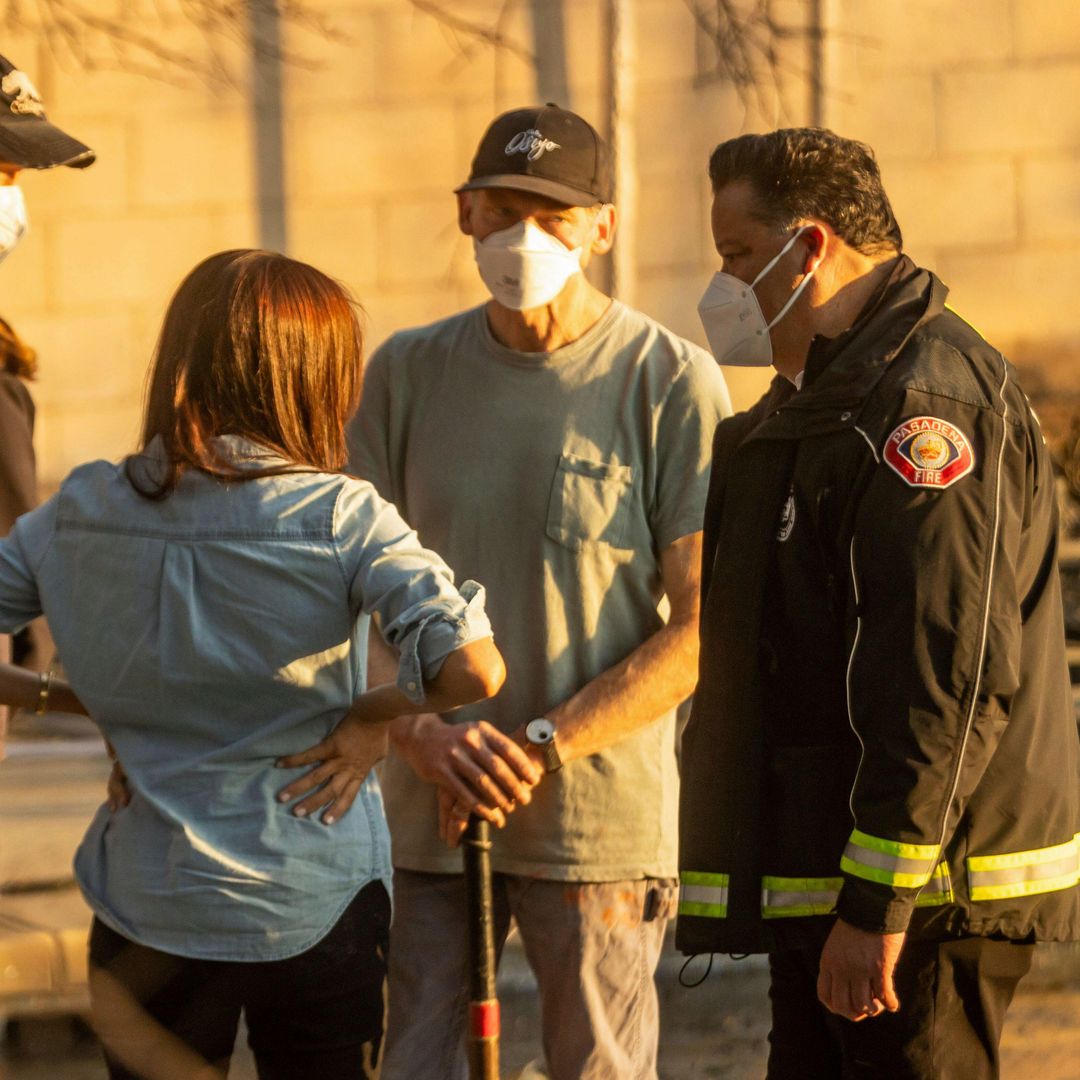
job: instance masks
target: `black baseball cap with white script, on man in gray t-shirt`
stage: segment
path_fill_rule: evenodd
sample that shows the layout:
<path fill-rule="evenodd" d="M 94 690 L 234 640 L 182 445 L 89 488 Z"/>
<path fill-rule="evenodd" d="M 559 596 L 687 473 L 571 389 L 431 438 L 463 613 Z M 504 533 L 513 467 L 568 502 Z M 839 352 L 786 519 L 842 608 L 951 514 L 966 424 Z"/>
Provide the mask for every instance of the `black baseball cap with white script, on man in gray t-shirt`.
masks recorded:
<path fill-rule="evenodd" d="M 588 121 L 549 102 L 497 117 L 457 191 L 512 188 L 567 206 L 610 202 L 611 153 Z"/>

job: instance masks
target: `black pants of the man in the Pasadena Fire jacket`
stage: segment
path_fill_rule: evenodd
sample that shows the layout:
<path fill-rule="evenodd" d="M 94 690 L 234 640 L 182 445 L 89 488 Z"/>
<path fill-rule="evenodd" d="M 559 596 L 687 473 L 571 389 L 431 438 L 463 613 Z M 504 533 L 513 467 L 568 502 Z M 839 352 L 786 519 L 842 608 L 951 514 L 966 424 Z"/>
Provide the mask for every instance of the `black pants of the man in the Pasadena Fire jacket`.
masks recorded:
<path fill-rule="evenodd" d="M 818 1000 L 823 945 L 769 956 L 768 1080 L 997 1080 L 1005 1010 L 1034 945 L 908 941 L 894 974 L 900 1011 L 859 1023 Z"/>

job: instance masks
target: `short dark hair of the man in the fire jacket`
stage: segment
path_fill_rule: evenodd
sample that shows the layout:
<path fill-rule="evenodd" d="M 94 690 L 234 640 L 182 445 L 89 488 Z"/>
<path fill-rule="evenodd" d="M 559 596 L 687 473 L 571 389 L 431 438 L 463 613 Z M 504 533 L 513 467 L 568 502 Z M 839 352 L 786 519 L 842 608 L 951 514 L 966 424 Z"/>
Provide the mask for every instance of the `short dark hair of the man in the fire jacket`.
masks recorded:
<path fill-rule="evenodd" d="M 745 180 L 756 217 L 787 229 L 815 217 L 864 255 L 901 252 L 904 238 L 874 151 L 823 127 L 786 127 L 721 143 L 708 160 L 713 191 Z"/>

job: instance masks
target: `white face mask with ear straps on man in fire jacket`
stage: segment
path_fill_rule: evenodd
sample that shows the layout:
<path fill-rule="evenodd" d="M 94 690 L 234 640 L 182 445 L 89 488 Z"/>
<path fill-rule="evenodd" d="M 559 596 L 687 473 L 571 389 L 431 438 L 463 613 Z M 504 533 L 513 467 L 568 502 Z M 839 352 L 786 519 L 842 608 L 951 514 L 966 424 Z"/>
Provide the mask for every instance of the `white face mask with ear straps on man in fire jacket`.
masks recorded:
<path fill-rule="evenodd" d="M 795 235 L 761 268 L 761 272 L 747 285 L 723 270 L 713 274 L 705 295 L 698 303 L 698 314 L 705 327 L 708 348 L 718 364 L 734 367 L 768 367 L 772 363 L 772 339 L 769 330 L 780 322 L 799 298 L 818 270 L 816 264 L 799 282 L 787 302 L 777 312 L 771 323 L 765 321 L 757 302 L 754 286 L 792 249 L 792 245 L 809 226 L 802 226 Z"/>

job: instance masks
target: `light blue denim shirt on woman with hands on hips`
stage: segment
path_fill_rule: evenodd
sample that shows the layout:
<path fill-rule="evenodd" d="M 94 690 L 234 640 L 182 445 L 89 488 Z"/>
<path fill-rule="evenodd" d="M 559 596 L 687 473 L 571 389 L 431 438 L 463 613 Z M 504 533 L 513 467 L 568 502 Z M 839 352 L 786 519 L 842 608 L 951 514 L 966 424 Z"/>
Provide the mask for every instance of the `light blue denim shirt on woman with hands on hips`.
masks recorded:
<path fill-rule="evenodd" d="M 322 740 L 365 689 L 369 615 L 418 701 L 449 652 L 490 634 L 483 590 L 459 593 L 367 483 L 189 472 L 152 501 L 105 461 L 0 542 L 0 631 L 42 611 L 132 787 L 76 855 L 86 900 L 133 941 L 215 960 L 295 956 L 369 881 L 389 888 L 374 774 L 334 825 L 275 800 L 306 771 L 275 759 Z"/>

